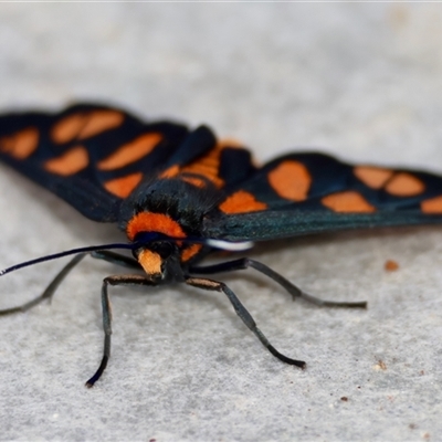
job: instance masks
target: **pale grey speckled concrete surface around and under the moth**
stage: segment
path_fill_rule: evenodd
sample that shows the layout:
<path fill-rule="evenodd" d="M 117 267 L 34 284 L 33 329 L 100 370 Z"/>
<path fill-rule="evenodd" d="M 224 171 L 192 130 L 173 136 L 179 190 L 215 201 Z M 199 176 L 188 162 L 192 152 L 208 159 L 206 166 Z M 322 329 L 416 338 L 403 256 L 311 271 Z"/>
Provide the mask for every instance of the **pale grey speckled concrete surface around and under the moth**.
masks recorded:
<path fill-rule="evenodd" d="M 0 107 L 109 102 L 208 123 L 260 160 L 312 146 L 442 172 L 441 40 L 431 3 L 2 3 Z M 0 186 L 1 267 L 118 236 L 4 166 Z M 112 360 L 93 390 L 101 280 L 120 270 L 84 262 L 51 306 L 0 318 L 0 440 L 441 440 L 441 229 L 422 228 L 252 253 L 313 294 L 367 299 L 367 312 L 225 275 L 305 371 L 269 355 L 222 296 L 115 290 Z M 0 307 L 61 265 L 1 278 Z"/>

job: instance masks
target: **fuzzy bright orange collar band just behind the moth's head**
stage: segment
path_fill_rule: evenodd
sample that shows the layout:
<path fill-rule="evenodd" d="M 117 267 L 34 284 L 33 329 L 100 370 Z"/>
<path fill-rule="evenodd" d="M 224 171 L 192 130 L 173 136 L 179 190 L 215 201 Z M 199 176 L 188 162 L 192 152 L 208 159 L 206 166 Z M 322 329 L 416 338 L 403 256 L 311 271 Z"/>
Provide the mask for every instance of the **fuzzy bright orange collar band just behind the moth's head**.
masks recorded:
<path fill-rule="evenodd" d="M 134 241 L 137 233 L 158 232 L 171 238 L 186 238 L 181 225 L 164 213 L 139 212 L 127 223 L 126 233 Z"/>

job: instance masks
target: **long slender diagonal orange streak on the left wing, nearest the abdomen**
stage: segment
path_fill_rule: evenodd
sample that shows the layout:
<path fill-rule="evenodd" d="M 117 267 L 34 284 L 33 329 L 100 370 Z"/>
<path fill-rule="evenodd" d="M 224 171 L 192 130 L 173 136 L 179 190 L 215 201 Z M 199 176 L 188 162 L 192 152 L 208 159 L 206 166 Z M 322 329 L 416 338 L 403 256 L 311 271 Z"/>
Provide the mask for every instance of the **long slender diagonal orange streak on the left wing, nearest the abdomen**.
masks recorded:
<path fill-rule="evenodd" d="M 101 160 L 97 167 L 101 170 L 114 170 L 138 161 L 150 154 L 161 139 L 160 134 L 144 134 Z"/>

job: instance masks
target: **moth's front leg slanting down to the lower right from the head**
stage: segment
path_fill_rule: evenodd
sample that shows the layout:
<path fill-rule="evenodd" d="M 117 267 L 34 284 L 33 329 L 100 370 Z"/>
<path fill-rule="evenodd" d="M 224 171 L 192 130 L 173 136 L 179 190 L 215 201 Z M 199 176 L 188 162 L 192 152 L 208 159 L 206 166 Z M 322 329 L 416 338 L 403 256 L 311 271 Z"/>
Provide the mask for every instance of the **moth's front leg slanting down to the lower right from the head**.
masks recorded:
<path fill-rule="evenodd" d="M 252 330 L 255 336 L 261 340 L 262 345 L 277 359 L 282 360 L 285 364 L 290 364 L 292 366 L 296 366 L 299 368 L 305 368 L 306 364 L 303 360 L 291 359 L 287 356 L 281 354 L 276 350 L 275 347 L 270 344 L 269 339 L 264 336 L 264 334 L 257 328 L 255 320 L 252 315 L 248 312 L 248 309 L 243 306 L 238 296 L 224 284 L 218 281 L 188 276 L 186 278 L 186 283 L 192 285 L 198 288 L 203 288 L 207 291 L 214 292 L 223 292 L 229 301 L 231 302 L 236 315 L 242 319 L 242 322 Z"/>

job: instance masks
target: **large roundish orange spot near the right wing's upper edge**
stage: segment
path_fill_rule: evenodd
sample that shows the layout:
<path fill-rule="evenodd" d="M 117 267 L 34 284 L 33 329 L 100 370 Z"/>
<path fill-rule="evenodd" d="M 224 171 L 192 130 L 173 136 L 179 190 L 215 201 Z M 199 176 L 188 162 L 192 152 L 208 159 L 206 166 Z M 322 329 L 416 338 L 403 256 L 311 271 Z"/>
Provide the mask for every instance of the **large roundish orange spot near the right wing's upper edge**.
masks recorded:
<path fill-rule="evenodd" d="M 286 160 L 269 172 L 269 183 L 281 198 L 304 201 L 312 185 L 312 177 L 302 162 Z"/>

